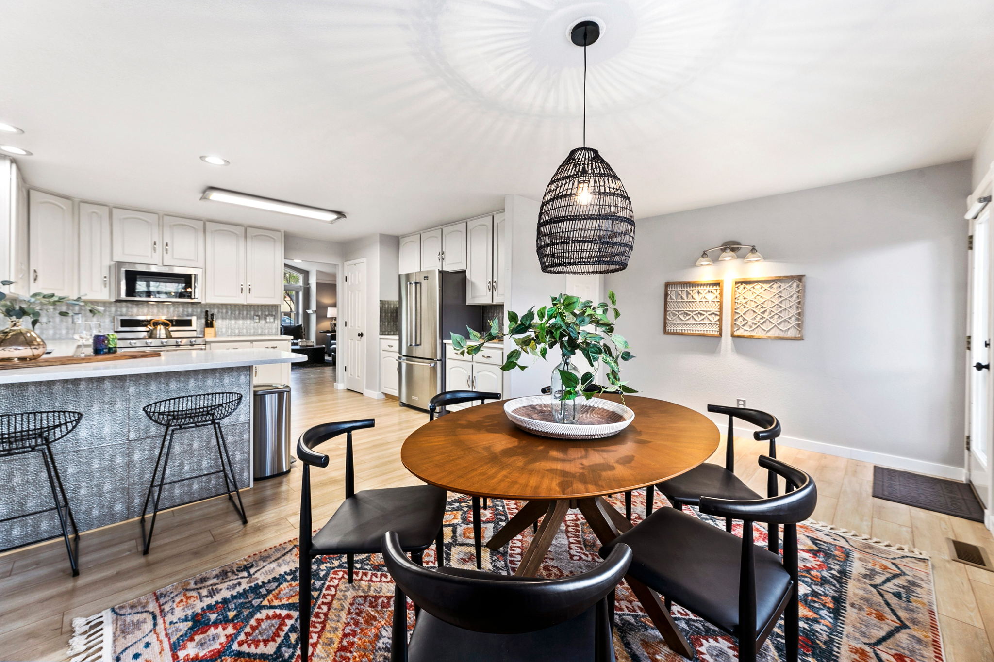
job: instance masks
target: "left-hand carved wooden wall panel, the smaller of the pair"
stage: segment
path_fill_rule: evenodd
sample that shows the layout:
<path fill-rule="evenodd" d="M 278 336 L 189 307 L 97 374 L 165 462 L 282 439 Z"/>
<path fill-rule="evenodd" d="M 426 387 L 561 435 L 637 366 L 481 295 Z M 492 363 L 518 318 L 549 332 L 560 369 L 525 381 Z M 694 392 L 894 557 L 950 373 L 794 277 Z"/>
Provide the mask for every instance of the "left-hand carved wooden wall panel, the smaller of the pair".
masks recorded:
<path fill-rule="evenodd" d="M 720 337 L 724 310 L 725 281 L 671 281 L 663 285 L 663 333 Z"/>

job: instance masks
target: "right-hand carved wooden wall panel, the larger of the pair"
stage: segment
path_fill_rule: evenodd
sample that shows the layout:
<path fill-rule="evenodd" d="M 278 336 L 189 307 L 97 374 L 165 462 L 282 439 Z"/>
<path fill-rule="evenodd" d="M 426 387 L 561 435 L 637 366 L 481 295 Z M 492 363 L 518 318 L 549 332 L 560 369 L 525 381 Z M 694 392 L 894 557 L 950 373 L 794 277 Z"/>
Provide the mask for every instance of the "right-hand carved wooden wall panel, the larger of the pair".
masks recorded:
<path fill-rule="evenodd" d="M 737 278 L 732 289 L 733 337 L 804 339 L 804 276 Z"/>

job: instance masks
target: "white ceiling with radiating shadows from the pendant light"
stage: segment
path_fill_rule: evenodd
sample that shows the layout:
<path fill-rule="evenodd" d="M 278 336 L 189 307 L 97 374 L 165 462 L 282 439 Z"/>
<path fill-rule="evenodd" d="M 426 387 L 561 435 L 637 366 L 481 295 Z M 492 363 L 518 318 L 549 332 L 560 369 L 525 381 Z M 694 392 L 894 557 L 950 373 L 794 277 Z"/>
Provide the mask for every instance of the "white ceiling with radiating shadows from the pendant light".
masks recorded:
<path fill-rule="evenodd" d="M 29 183 L 347 240 L 540 199 L 588 144 L 636 217 L 968 158 L 989 0 L 5 0 Z M 216 154 L 232 165 L 201 163 Z M 328 225 L 208 186 L 344 210 Z"/>

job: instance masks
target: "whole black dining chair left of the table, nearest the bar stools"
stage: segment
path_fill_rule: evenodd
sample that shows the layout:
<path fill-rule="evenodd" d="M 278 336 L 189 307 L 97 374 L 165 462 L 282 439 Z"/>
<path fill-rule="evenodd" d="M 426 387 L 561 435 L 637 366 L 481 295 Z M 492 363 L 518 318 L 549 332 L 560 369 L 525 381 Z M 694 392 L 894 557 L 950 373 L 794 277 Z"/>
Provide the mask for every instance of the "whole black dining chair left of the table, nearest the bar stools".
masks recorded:
<path fill-rule="evenodd" d="M 356 554 L 378 554 L 382 551 L 383 534 L 395 531 L 398 545 L 421 563 L 424 550 L 435 544 L 437 564 L 442 565 L 442 519 L 445 515 L 445 490 L 434 485 L 364 489 L 355 487 L 355 464 L 352 458 L 352 433 L 372 428 L 374 419 L 343 421 L 314 426 L 300 436 L 297 458 L 304 463 L 300 487 L 300 660 L 307 662 L 308 632 L 311 609 L 311 562 L 314 557 L 344 554 L 348 582 L 352 584 Z M 345 501 L 331 519 L 312 534 L 310 467 L 324 468 L 328 456 L 314 450 L 319 444 L 346 434 L 345 442 Z"/>

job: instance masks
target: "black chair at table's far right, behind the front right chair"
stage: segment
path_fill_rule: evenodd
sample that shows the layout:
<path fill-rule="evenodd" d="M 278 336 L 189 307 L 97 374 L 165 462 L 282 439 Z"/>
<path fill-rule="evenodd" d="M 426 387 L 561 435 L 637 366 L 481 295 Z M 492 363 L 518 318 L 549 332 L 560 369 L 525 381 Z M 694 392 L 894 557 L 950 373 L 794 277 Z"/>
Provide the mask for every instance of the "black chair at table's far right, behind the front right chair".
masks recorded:
<path fill-rule="evenodd" d="M 742 478 L 735 474 L 736 470 L 736 438 L 735 420 L 741 419 L 759 430 L 752 433 L 752 438 L 759 442 L 769 442 L 769 457 L 776 458 L 776 438 L 780 436 L 780 422 L 776 417 L 758 409 L 743 407 L 725 407 L 723 405 L 708 405 L 708 411 L 713 414 L 727 414 L 729 431 L 725 440 L 725 466 L 720 464 L 698 464 L 686 473 L 675 478 L 664 480 L 655 486 L 663 496 L 678 510 L 684 505 L 696 506 L 702 496 L 714 496 L 720 499 L 748 501 L 762 498 L 745 484 Z M 766 496 L 776 496 L 776 474 L 768 472 L 766 479 Z M 652 514 L 653 486 L 645 490 L 645 516 Z M 725 521 L 725 530 L 732 530 L 732 520 Z M 779 534 L 774 527 L 769 532 L 769 550 L 775 552 Z"/>

